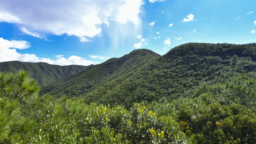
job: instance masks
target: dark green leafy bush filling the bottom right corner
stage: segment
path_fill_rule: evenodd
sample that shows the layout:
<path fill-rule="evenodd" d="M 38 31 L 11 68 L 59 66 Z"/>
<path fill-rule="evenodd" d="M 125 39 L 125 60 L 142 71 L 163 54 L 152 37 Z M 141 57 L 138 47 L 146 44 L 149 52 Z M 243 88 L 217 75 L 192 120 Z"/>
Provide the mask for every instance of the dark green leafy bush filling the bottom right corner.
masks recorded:
<path fill-rule="evenodd" d="M 178 120 L 192 128 L 196 143 L 256 143 L 256 115 L 244 106 L 212 104 L 208 108 L 183 106 Z"/>

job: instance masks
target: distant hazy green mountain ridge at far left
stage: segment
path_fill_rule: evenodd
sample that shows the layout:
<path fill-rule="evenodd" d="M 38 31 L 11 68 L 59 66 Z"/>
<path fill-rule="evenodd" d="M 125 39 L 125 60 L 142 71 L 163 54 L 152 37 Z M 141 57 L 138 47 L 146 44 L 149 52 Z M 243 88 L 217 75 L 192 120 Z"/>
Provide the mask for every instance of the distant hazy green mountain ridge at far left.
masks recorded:
<path fill-rule="evenodd" d="M 92 65 L 90 65 L 92 66 Z M 45 86 L 56 80 L 61 79 L 64 76 L 76 74 L 82 70 L 89 68 L 90 66 L 59 66 L 47 64 L 45 62 L 20 62 L 10 61 L 1 62 L 0 71 L 16 73 L 18 70 L 26 70 L 30 73 L 32 78 L 36 78 L 40 86 Z"/>

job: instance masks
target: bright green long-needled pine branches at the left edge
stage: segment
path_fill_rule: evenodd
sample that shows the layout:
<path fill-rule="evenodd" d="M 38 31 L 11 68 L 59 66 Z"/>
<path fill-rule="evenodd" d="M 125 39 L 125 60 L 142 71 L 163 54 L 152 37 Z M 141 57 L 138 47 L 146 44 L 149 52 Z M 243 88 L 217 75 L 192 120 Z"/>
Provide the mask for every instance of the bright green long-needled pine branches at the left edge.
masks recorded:
<path fill-rule="evenodd" d="M 23 141 L 33 132 L 27 99 L 37 96 L 39 86 L 28 72 L 0 72 L 0 142 Z"/>

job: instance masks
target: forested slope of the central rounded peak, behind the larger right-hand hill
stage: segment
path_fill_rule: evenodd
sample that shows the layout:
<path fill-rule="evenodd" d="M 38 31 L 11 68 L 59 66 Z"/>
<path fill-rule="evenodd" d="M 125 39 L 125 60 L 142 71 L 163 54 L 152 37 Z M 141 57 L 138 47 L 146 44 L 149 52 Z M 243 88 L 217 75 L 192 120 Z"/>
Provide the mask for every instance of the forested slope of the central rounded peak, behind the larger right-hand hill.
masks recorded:
<path fill-rule="evenodd" d="M 148 62 L 159 56 L 151 50 L 134 50 L 121 58 L 111 58 L 102 64 L 94 65 L 78 74 L 66 76 L 48 86 L 44 86 L 40 94 L 49 93 L 55 97 L 64 94 L 70 97 L 81 96 L 89 92 L 100 81 L 110 76 L 115 79 L 134 68 L 134 65 L 137 66 L 142 61 Z"/>

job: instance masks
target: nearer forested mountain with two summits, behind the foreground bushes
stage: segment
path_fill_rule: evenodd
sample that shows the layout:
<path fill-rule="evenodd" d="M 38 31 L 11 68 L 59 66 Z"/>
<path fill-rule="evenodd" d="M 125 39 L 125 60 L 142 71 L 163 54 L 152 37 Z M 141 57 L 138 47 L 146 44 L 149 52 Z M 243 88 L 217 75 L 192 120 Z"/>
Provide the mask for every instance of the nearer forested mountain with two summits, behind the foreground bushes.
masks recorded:
<path fill-rule="evenodd" d="M 256 71 L 255 43 L 188 43 L 164 56 L 152 54 L 145 49 L 134 50 L 64 77 L 43 87 L 41 94 L 82 96 L 86 103 L 130 107 L 142 101 L 171 102 L 180 97 L 189 98 L 202 84 L 229 82 L 241 74 L 254 78 Z"/>

